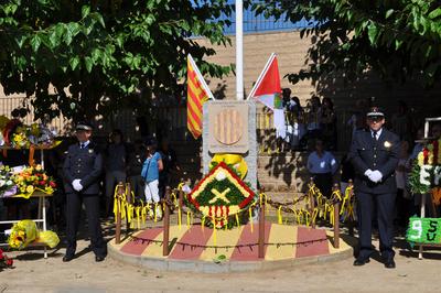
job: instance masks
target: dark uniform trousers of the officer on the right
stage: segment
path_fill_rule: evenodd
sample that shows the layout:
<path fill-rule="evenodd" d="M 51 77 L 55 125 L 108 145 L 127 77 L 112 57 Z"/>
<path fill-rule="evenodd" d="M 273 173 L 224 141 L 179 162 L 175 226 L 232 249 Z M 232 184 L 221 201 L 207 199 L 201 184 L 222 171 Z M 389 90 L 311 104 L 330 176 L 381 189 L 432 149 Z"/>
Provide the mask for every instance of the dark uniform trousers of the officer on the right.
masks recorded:
<path fill-rule="evenodd" d="M 377 211 L 379 250 L 385 260 L 394 259 L 394 211 L 396 194 L 357 193 L 357 215 L 359 234 L 358 258 L 369 258 L 372 250 L 372 223 L 374 209 Z"/>

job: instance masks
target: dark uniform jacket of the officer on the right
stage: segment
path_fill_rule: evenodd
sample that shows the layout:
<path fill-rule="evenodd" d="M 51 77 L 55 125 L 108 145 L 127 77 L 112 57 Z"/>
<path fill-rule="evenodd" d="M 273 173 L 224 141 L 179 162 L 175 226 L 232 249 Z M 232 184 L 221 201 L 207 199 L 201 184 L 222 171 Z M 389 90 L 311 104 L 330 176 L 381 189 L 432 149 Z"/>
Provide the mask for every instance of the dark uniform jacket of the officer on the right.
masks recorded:
<path fill-rule="evenodd" d="M 349 154 L 355 169 L 355 192 L 396 193 L 395 169 L 398 164 L 399 149 L 398 135 L 384 128 L 377 141 L 373 139 L 370 130 L 355 132 Z M 381 181 L 374 183 L 364 175 L 368 169 L 381 172 Z"/>

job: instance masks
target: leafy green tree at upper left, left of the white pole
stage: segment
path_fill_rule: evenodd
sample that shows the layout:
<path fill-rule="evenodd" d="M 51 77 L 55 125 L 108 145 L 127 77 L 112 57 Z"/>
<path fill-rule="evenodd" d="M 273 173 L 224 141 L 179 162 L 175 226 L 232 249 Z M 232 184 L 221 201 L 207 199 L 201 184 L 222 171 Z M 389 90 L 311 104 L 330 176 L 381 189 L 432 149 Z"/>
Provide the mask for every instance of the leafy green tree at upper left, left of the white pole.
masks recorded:
<path fill-rule="evenodd" d="M 92 119 L 139 100 L 141 89 L 175 94 L 189 53 L 203 74 L 229 72 L 204 62 L 215 51 L 192 36 L 229 44 L 228 21 L 215 20 L 230 11 L 226 0 L 1 1 L 0 83 L 7 95 L 25 93 L 35 118 Z"/>

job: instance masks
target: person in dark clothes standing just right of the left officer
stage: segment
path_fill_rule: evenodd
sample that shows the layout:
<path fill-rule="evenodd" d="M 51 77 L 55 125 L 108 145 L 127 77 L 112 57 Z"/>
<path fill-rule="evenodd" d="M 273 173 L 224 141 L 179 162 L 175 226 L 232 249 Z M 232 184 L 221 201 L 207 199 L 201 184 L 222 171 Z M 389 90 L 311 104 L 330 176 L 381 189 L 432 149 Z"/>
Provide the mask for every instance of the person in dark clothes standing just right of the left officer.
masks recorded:
<path fill-rule="evenodd" d="M 114 208 L 115 186 L 126 182 L 127 148 L 123 143 L 122 132 L 115 129 L 109 137 L 109 145 L 106 150 L 106 198 L 105 217 L 111 215 Z"/>

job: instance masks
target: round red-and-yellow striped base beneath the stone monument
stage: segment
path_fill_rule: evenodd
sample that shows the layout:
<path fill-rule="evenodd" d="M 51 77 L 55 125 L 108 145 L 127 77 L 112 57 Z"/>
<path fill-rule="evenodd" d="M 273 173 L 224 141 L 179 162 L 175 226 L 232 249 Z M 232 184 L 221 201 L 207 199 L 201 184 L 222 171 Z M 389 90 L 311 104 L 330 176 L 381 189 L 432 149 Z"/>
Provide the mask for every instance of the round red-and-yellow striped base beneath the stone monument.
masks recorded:
<path fill-rule="evenodd" d="M 330 241 L 332 235 L 324 229 L 270 223 L 266 224 L 265 229 L 265 242 L 271 243 L 265 247 L 265 260 L 326 256 L 349 248 L 347 243 L 341 241 L 340 249 L 334 249 Z M 162 231 L 161 227 L 140 230 L 132 235 L 135 238 L 128 238 L 119 245 L 111 241 L 110 245 L 115 250 L 133 257 L 165 258 L 162 256 L 161 243 L 157 242 L 162 241 Z M 215 234 L 213 229 L 201 225 L 182 226 L 181 228 L 171 226 L 170 241 L 174 245 L 166 258 L 173 260 L 213 261 L 219 254 L 224 254 L 226 260 L 230 261 L 259 260 L 258 247 L 248 246 L 258 241 L 258 225 L 246 225 L 232 230 L 216 230 Z M 235 248 L 215 249 L 213 246 L 235 246 Z"/>

